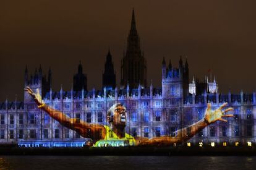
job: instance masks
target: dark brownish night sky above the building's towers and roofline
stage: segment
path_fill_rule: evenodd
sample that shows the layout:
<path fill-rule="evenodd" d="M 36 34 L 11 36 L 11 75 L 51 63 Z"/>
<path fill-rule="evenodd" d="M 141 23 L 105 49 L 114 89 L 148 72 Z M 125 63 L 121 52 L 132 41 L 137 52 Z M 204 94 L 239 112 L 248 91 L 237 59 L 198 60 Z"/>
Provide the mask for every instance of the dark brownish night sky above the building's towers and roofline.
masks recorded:
<path fill-rule="evenodd" d="M 148 82 L 161 85 L 163 56 L 177 66 L 187 56 L 190 78 L 213 70 L 220 90 L 252 92 L 256 85 L 256 1 L 0 1 L 0 101 L 23 100 L 25 65 L 51 66 L 53 90 L 70 90 L 79 60 L 88 88 L 101 87 L 111 49 L 117 83 L 132 7 L 148 66 Z"/>

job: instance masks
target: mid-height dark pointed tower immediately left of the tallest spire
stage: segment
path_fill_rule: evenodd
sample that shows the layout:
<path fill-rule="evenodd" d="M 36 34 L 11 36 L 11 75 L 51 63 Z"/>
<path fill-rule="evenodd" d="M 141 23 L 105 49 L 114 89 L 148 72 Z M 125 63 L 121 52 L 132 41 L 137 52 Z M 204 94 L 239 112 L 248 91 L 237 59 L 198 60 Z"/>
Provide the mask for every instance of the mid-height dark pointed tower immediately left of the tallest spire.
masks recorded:
<path fill-rule="evenodd" d="M 105 70 L 102 74 L 102 87 L 107 89 L 114 89 L 116 87 L 116 74 L 114 73 L 114 64 L 109 49 L 106 56 Z"/>

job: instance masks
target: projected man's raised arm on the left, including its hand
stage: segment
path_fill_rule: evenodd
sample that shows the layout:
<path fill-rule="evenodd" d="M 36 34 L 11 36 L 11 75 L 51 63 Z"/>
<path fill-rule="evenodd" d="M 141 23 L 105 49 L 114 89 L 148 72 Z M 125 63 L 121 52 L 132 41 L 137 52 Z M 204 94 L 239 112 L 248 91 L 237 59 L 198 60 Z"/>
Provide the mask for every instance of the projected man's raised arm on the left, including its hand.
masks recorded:
<path fill-rule="evenodd" d="M 66 114 L 62 113 L 61 111 L 53 109 L 47 104 L 45 104 L 41 99 L 39 91 L 36 91 L 36 93 L 33 93 L 33 90 L 30 87 L 26 87 L 24 90 L 27 91 L 27 93 L 32 96 L 32 98 L 35 100 L 36 104 L 38 105 L 38 108 L 48 113 L 49 116 L 51 116 L 53 119 L 58 121 L 61 125 L 64 125 L 68 129 L 75 130 L 82 137 L 92 138 L 92 139 L 101 139 L 105 137 L 106 130 L 103 125 L 88 124 L 87 122 L 84 122 L 84 121 L 80 121 L 80 120 L 77 121 L 77 119 L 75 118 L 69 118 Z M 99 134 L 100 129 L 101 129 L 101 135 Z"/>

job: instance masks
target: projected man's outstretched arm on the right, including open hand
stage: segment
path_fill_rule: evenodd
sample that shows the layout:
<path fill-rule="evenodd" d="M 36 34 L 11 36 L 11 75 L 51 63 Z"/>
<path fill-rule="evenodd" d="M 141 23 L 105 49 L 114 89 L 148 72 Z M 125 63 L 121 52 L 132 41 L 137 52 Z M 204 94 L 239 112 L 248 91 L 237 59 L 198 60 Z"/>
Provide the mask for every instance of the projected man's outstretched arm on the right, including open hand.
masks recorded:
<path fill-rule="evenodd" d="M 224 114 L 228 111 L 232 111 L 233 108 L 223 109 L 228 103 L 224 103 L 220 106 L 220 108 L 211 110 L 211 104 L 208 103 L 207 109 L 205 111 L 205 117 L 201 119 L 198 122 L 195 122 L 192 125 L 189 125 L 188 127 L 182 128 L 180 130 L 177 130 L 176 137 L 157 137 L 157 138 L 151 138 L 150 140 L 147 140 L 145 142 L 142 142 L 140 145 L 171 145 L 173 143 L 182 143 L 186 142 L 190 138 L 194 137 L 195 134 L 197 134 L 200 130 L 207 127 L 209 124 L 213 124 L 216 121 L 223 121 L 227 122 L 227 120 L 223 119 L 223 117 L 233 117 L 233 114 Z"/>

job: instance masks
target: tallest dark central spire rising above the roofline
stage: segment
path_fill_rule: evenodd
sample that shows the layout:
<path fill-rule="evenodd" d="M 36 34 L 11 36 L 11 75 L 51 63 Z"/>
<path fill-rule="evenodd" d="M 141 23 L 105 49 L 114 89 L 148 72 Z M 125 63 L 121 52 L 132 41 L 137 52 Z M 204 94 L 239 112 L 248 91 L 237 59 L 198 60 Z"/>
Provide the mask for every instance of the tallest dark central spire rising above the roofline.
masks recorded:
<path fill-rule="evenodd" d="M 132 22 L 127 37 L 127 49 L 121 60 L 121 88 L 147 87 L 147 61 L 140 49 L 140 38 L 137 33 L 134 9 L 132 9 Z"/>

